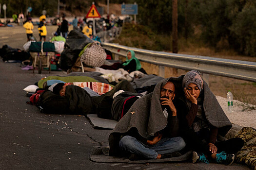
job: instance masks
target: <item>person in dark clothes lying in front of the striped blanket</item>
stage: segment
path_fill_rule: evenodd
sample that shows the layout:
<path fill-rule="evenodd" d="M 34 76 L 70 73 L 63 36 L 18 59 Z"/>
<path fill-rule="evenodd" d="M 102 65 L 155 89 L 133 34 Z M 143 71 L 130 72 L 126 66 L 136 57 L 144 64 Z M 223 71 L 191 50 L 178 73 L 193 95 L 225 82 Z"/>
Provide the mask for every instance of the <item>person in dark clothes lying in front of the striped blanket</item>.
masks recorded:
<path fill-rule="evenodd" d="M 97 114 L 99 118 L 104 119 L 113 119 L 111 114 L 113 95 L 119 90 L 136 93 L 126 80 L 122 80 L 112 90 L 101 96 L 90 96 L 86 90 L 76 85 L 65 86 L 63 83 L 59 83 L 53 87 L 54 94 L 66 97 L 69 101 L 72 114 Z"/>

